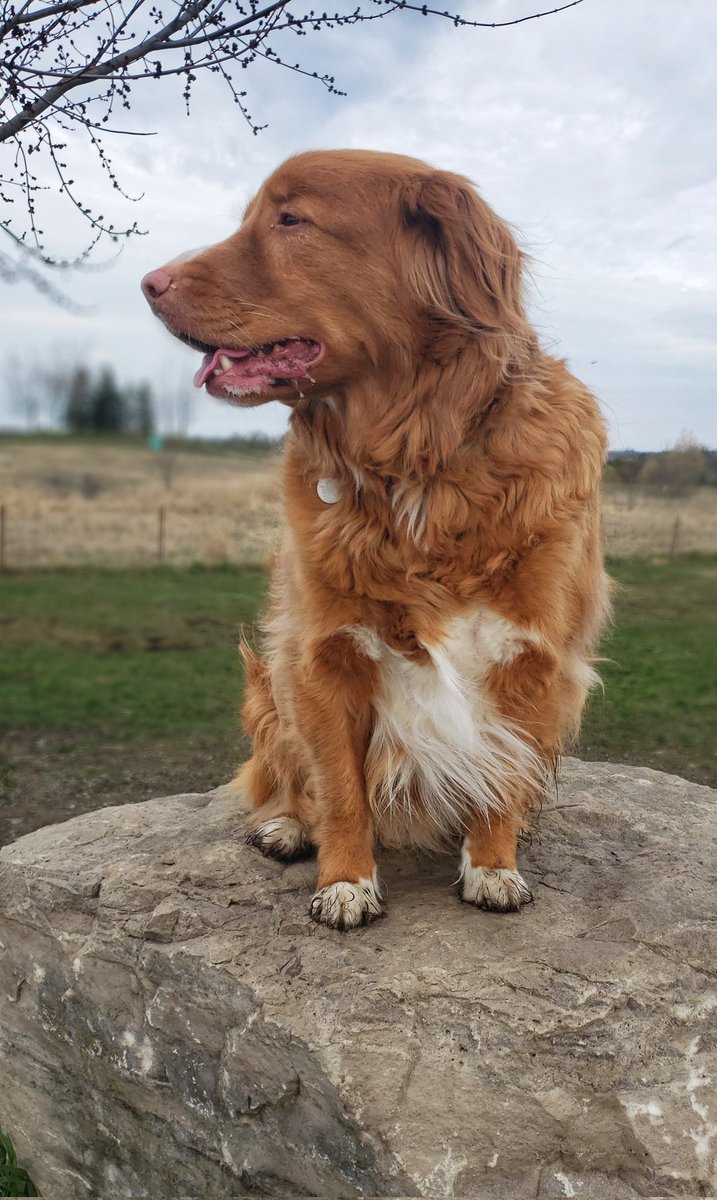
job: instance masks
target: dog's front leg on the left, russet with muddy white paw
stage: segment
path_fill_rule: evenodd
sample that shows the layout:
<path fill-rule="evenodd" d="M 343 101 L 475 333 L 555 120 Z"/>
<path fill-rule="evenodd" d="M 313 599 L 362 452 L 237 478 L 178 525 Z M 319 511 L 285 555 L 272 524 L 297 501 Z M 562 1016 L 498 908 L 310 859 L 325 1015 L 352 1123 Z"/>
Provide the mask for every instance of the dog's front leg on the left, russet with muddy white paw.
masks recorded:
<path fill-rule="evenodd" d="M 353 929 L 382 912 L 364 779 L 375 666 L 345 631 L 315 642 L 302 658 L 296 712 L 312 757 L 319 848 L 309 912 L 324 925 Z"/>

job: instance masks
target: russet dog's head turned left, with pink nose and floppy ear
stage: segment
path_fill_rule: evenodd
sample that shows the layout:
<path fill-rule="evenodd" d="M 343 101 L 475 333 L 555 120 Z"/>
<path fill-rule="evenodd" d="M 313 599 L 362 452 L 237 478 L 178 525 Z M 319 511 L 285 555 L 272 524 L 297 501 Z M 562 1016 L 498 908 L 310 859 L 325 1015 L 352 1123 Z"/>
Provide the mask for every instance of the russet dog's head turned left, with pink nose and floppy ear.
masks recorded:
<path fill-rule="evenodd" d="M 471 342 L 507 366 L 530 340 L 520 252 L 470 184 L 399 155 L 317 151 L 278 168 L 227 241 L 143 280 L 235 403 L 341 392 Z"/>

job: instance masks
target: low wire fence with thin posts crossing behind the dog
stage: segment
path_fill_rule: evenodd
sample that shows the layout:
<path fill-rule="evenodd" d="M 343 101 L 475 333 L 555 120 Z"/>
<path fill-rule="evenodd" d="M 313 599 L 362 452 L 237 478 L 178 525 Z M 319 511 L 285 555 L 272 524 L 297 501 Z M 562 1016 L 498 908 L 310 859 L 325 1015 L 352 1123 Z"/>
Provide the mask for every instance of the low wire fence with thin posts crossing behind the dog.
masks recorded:
<path fill-rule="evenodd" d="M 281 521 L 278 494 L 239 508 L 72 503 L 0 505 L 0 570 L 266 562 Z M 665 497 L 605 491 L 605 551 L 615 558 L 717 553 L 717 488 Z"/>

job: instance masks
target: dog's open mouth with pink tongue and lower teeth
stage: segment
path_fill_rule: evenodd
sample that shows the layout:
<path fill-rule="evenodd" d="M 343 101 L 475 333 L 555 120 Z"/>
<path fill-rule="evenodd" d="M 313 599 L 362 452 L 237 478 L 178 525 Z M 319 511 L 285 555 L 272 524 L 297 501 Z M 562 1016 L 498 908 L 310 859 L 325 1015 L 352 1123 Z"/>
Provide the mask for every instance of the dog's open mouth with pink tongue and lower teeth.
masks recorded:
<path fill-rule="evenodd" d="M 222 386 L 246 391 L 281 386 L 287 380 L 306 378 L 323 358 L 321 343 L 308 337 L 287 337 L 249 350 L 209 348 L 194 376 L 194 386 L 203 388 L 213 379 Z"/>

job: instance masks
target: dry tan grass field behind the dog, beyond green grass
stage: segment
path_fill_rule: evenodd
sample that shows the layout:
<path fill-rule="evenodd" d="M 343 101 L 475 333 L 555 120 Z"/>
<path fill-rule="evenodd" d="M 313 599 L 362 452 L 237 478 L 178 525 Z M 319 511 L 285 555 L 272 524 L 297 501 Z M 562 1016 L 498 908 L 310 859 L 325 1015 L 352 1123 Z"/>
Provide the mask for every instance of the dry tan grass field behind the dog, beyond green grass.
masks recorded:
<path fill-rule="evenodd" d="M 8 566 L 153 563 L 161 508 L 165 562 L 259 563 L 279 521 L 273 456 L 6 439 L 0 481 Z M 667 554 L 677 517 L 677 552 L 717 552 L 717 488 L 669 499 L 610 487 L 607 551 L 617 558 Z"/>

